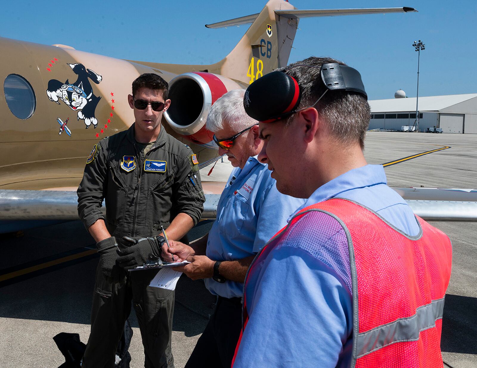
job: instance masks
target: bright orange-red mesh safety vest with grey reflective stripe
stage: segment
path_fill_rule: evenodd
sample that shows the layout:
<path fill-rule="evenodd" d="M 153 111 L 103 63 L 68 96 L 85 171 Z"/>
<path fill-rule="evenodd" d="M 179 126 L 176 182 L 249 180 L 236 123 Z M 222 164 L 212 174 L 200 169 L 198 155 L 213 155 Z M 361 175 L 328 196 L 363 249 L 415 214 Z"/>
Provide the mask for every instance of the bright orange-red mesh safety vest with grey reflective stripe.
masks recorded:
<path fill-rule="evenodd" d="M 444 297 L 452 266 L 446 234 L 416 216 L 422 234 L 404 235 L 373 211 L 345 199 L 330 199 L 297 213 L 251 264 L 270 254 L 294 224 L 310 211 L 335 217 L 348 238 L 353 287 L 351 367 L 443 367 L 440 350 Z M 244 293 L 243 326 L 249 320 Z M 319 364 L 319 362 L 317 362 Z"/>

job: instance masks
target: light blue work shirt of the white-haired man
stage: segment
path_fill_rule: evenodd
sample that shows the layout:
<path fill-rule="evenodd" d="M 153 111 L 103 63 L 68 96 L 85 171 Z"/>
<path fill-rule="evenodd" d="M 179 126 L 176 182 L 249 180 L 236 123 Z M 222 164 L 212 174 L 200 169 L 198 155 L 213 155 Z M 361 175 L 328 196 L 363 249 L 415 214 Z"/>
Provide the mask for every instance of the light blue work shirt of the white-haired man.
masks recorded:
<path fill-rule="evenodd" d="M 277 190 L 266 164 L 250 157 L 243 169 L 235 168 L 220 196 L 217 218 L 208 234 L 206 256 L 233 261 L 254 256 L 280 229 L 305 199 Z M 205 279 L 207 289 L 226 298 L 242 297 L 243 283 Z"/>

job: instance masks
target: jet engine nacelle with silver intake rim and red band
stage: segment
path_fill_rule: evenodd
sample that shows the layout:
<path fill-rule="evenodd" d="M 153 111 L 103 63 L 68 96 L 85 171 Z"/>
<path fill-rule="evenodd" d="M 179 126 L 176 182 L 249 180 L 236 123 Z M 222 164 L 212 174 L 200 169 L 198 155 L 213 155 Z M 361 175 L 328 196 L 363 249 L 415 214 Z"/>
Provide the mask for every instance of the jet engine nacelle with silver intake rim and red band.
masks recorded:
<path fill-rule="evenodd" d="M 218 74 L 179 74 L 169 82 L 171 105 L 164 117 L 170 127 L 187 140 L 217 149 L 215 143 L 211 144 L 214 133 L 205 127 L 208 112 L 224 93 L 239 88 L 237 82 Z"/>

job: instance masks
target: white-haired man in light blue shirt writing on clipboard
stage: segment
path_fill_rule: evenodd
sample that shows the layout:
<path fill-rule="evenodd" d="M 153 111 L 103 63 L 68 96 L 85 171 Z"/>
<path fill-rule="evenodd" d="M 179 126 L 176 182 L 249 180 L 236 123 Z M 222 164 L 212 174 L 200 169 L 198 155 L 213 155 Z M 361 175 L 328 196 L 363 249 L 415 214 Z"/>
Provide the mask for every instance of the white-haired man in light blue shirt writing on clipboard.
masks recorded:
<path fill-rule="evenodd" d="M 203 278 L 218 296 L 217 307 L 186 368 L 230 367 L 242 322 L 243 283 L 250 263 L 263 245 L 287 224 L 303 199 L 280 194 L 266 164 L 257 160 L 263 142 L 258 122 L 243 107 L 244 90 L 224 94 L 212 106 L 207 129 L 214 132 L 219 154 L 232 171 L 218 203 L 210 232 L 189 245 L 170 241 L 163 257 L 191 263 L 176 267 L 193 280 Z"/>

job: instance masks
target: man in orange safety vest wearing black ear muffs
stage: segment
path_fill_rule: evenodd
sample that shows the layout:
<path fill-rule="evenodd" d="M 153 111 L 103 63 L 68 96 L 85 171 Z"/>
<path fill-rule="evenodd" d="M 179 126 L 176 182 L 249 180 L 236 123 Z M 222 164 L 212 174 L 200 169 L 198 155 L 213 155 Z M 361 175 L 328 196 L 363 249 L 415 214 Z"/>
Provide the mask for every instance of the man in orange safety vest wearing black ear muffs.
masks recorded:
<path fill-rule="evenodd" d="M 310 57 L 253 82 L 244 106 L 278 190 L 307 202 L 249 267 L 232 366 L 442 367 L 452 247 L 366 163 L 359 72 Z"/>

